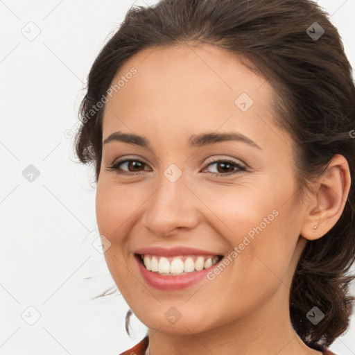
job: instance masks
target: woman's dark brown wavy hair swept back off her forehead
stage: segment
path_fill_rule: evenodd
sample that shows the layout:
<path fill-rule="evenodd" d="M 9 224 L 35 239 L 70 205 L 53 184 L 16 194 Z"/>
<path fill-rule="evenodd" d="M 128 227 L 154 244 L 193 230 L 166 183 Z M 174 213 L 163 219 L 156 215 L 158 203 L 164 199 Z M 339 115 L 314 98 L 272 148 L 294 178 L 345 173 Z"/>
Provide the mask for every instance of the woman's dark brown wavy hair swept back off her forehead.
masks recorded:
<path fill-rule="evenodd" d="M 312 33 L 322 35 L 315 38 Z M 85 116 L 107 94 L 115 74 L 132 55 L 147 47 L 191 41 L 239 54 L 245 64 L 252 63 L 252 69 L 270 81 L 276 123 L 293 139 L 301 196 L 334 155 L 347 159 L 352 182 L 343 214 L 322 238 L 307 242 L 290 293 L 291 322 L 297 334 L 311 347 L 321 342 L 330 345 L 349 327 L 354 302 L 348 291 L 355 259 L 355 139 L 351 134 L 355 88 L 338 31 L 316 3 L 162 0 L 154 6 L 130 8 L 89 73 L 87 95 L 80 106 L 76 154 L 80 162 L 94 164 L 97 182 L 105 106 L 90 119 Z M 306 318 L 313 306 L 324 313 L 318 324 Z"/>

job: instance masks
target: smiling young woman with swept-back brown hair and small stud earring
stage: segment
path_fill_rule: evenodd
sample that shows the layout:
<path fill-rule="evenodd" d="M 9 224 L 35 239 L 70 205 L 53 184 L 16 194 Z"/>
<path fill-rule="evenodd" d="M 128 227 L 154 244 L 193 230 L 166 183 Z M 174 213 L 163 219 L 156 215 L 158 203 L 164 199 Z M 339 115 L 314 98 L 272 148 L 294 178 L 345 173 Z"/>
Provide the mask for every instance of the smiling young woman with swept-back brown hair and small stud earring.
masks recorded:
<path fill-rule="evenodd" d="M 351 70 L 308 0 L 128 11 L 76 136 L 107 266 L 148 327 L 123 354 L 332 354 L 354 300 Z"/>

